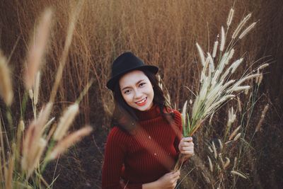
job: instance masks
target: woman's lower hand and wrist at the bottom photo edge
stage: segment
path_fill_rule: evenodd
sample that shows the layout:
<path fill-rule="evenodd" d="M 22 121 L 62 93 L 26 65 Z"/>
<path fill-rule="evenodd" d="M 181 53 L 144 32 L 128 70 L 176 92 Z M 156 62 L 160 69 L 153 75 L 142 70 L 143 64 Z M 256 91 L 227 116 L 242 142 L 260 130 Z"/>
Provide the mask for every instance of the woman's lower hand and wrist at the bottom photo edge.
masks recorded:
<path fill-rule="evenodd" d="M 152 183 L 146 183 L 142 185 L 143 189 L 174 189 L 177 185 L 177 181 L 180 178 L 180 171 L 172 171 L 170 173 L 166 173 L 164 176 L 159 178 L 157 181 Z"/>

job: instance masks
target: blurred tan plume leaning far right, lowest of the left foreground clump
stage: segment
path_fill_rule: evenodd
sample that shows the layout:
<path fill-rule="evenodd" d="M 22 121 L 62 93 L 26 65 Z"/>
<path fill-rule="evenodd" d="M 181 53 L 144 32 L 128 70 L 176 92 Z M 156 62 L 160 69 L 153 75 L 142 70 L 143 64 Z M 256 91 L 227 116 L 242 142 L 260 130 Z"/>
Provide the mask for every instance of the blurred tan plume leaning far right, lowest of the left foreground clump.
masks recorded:
<path fill-rule="evenodd" d="M 48 155 L 47 160 L 56 159 L 59 154 L 62 154 L 65 150 L 71 147 L 72 144 L 81 140 L 82 137 L 90 134 L 92 127 L 86 126 L 76 132 L 69 134 L 67 137 L 59 141 L 59 143 L 52 149 L 51 153 Z"/>

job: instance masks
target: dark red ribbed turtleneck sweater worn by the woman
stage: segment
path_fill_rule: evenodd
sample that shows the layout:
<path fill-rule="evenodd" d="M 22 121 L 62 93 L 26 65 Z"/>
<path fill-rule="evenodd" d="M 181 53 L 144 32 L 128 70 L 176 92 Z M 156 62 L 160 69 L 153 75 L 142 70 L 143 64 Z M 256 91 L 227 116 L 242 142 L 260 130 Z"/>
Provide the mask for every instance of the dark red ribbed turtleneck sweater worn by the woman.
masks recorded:
<path fill-rule="evenodd" d="M 137 112 L 138 130 L 128 134 L 113 127 L 105 147 L 102 188 L 142 188 L 143 183 L 158 180 L 170 172 L 178 158 L 182 132 L 180 113 L 172 110 L 175 124 L 169 124 L 157 105 Z"/>

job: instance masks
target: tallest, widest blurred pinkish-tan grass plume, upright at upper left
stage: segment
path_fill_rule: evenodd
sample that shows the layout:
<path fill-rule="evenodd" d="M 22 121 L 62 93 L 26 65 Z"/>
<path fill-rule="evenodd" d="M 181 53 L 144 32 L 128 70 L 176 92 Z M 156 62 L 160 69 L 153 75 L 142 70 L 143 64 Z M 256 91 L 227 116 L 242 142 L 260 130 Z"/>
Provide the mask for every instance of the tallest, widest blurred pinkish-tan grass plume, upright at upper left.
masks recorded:
<path fill-rule="evenodd" d="M 40 19 L 40 23 L 35 33 L 35 40 L 30 42 L 30 50 L 28 52 L 28 67 L 25 71 L 25 88 L 30 90 L 35 83 L 35 76 L 42 64 L 42 57 L 45 54 L 45 47 L 50 33 L 52 19 L 52 11 L 45 10 Z"/>

